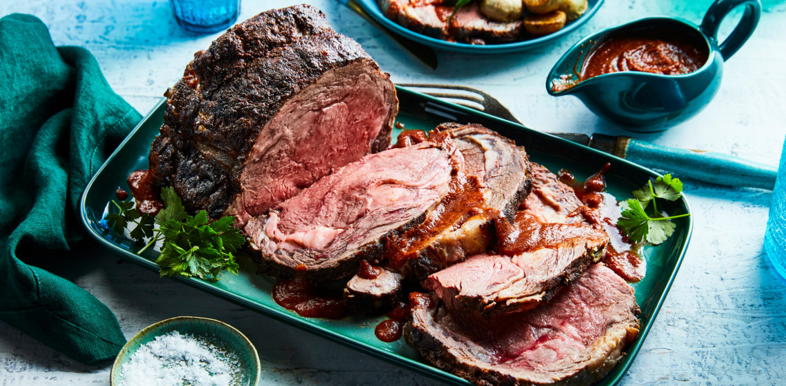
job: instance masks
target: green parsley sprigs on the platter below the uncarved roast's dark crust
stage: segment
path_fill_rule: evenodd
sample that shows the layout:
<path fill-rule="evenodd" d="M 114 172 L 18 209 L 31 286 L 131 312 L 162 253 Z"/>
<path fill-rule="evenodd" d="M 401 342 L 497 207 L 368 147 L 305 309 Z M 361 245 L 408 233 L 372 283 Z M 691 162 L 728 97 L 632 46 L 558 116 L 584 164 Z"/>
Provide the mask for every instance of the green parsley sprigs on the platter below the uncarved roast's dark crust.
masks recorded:
<path fill-rule="evenodd" d="M 107 225 L 118 234 L 123 234 L 129 223 L 134 225 L 130 237 L 139 244 L 148 241 L 138 255 L 163 240 L 156 259 L 161 276 L 218 281 L 222 270 L 237 274 L 233 253 L 245 244 L 245 238 L 232 226 L 234 216 L 210 222 L 204 210 L 189 215 L 171 187 L 161 189 L 161 200 L 163 208 L 155 217 L 138 211 L 133 201 L 112 200 L 119 213 L 106 215 Z"/>

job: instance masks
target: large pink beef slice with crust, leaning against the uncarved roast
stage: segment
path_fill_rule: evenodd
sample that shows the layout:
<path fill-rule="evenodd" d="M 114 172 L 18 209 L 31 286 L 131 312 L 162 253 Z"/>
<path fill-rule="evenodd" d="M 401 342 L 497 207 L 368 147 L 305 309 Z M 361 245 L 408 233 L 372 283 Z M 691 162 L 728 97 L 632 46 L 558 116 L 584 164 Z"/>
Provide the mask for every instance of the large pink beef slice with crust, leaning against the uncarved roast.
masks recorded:
<path fill-rule="evenodd" d="M 303 189 L 245 226 L 260 268 L 277 278 L 345 278 L 376 260 L 387 239 L 421 224 L 461 174 L 443 145 L 371 154 Z"/>

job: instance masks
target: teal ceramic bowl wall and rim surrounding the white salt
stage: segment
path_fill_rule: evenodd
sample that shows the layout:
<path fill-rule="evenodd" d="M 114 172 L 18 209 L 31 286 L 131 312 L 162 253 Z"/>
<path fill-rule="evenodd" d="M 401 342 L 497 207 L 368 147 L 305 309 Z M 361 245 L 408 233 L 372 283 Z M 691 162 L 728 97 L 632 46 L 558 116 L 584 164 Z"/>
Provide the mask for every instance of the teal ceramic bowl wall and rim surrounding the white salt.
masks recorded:
<path fill-rule="evenodd" d="M 162 336 L 173 331 L 204 337 L 216 346 L 237 355 L 241 371 L 237 373 L 235 382 L 243 386 L 256 386 L 259 383 L 259 355 L 251 340 L 248 340 L 243 333 L 233 326 L 215 319 L 178 316 L 177 318 L 166 319 L 149 325 L 128 340 L 127 344 L 120 350 L 117 358 L 115 358 L 115 363 L 112 365 L 112 373 L 109 375 L 109 384 L 112 386 L 121 384 L 123 364 L 128 362 L 131 355 L 139 347 L 156 339 L 156 336 Z"/>

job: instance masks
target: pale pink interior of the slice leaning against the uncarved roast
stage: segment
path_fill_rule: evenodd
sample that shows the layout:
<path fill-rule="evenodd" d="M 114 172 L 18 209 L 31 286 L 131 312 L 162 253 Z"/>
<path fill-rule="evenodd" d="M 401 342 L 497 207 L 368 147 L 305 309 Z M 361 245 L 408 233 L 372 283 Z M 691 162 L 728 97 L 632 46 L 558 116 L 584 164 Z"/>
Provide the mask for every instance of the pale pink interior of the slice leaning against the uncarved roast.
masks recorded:
<path fill-rule="evenodd" d="M 366 156 L 281 204 L 266 234 L 276 248 L 324 249 L 365 218 L 380 226 L 409 221 L 408 211 L 425 211 L 443 197 L 450 170 L 446 154 L 429 144 Z"/>

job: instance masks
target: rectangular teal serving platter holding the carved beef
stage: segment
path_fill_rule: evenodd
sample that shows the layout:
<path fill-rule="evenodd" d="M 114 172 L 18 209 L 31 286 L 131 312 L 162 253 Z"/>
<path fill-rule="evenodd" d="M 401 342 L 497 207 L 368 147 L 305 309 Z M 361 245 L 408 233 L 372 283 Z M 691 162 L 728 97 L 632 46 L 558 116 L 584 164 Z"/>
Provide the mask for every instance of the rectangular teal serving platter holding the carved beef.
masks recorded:
<path fill-rule="evenodd" d="M 577 178 L 586 178 L 600 170 L 606 163 L 611 163 L 611 170 L 606 175 L 607 191 L 619 200 L 629 198 L 631 190 L 644 185 L 648 178 L 658 176 L 656 172 L 626 160 L 534 131 L 472 108 L 440 101 L 435 97 L 402 87 L 397 87 L 396 90 L 400 106 L 397 122 L 403 123 L 407 129 L 428 131 L 443 122 L 480 123 L 513 139 L 518 145 L 523 145 L 532 161 L 543 164 L 555 172 L 565 168 Z M 126 178 L 130 172 L 148 167 L 150 144 L 163 123 L 164 107 L 162 101 L 134 128 L 115 153 L 112 153 L 87 186 L 82 197 L 81 210 L 84 225 L 97 241 L 125 259 L 154 271 L 158 270 L 155 263 L 158 252 L 148 250 L 142 255 L 137 255 L 135 252 L 139 247 L 134 245 L 133 241 L 108 229 L 102 219 L 109 210 L 109 201 L 116 199 L 116 189 L 128 189 Z M 398 132 L 399 130 L 394 131 L 394 138 Z M 685 197 L 670 203 L 670 206 L 665 209 L 670 214 L 690 211 Z M 644 280 L 633 284 L 637 303 L 641 307 L 641 332 L 628 348 L 627 355 L 615 366 L 612 373 L 598 384 L 613 385 L 622 380 L 641 344 L 644 343 L 663 300 L 666 299 L 681 260 L 685 256 L 685 250 L 688 248 L 693 226 L 691 217 L 678 219 L 676 223 L 677 229 L 668 241 L 657 247 L 643 248 L 642 255 L 647 261 L 647 274 Z M 446 383 L 469 384 L 467 380 L 428 365 L 403 339 L 391 344 L 377 340 L 374 336 L 374 327 L 384 317 L 348 317 L 340 320 L 300 317 L 273 301 L 270 289 L 274 280 L 256 274 L 255 267 L 248 261 L 241 262 L 239 275 L 224 273 L 219 278 L 216 283 L 195 278 L 162 278 L 161 280 L 181 281 L 242 307 Z"/>

